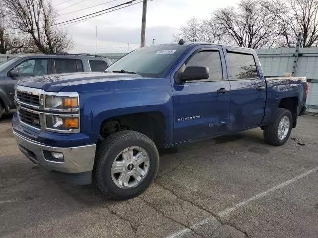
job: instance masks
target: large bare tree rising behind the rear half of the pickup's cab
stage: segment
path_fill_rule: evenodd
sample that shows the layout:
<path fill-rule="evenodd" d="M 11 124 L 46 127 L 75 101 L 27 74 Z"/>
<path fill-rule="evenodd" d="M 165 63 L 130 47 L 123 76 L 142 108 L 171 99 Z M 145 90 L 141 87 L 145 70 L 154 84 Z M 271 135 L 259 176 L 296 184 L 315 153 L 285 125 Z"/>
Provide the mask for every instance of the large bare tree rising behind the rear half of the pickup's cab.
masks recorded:
<path fill-rule="evenodd" d="M 276 45 L 276 16 L 259 0 L 241 0 L 238 8 L 220 8 L 212 13 L 212 19 L 233 44 L 253 49 Z"/>

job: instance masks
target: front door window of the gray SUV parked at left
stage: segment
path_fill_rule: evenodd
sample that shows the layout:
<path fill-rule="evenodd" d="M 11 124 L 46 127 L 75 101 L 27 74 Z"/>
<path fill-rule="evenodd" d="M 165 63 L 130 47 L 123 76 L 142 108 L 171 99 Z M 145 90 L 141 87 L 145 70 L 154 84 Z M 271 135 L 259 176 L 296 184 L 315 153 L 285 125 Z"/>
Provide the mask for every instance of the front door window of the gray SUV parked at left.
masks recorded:
<path fill-rule="evenodd" d="M 19 71 L 19 76 L 37 76 L 48 74 L 47 59 L 25 60 L 14 67 Z"/>

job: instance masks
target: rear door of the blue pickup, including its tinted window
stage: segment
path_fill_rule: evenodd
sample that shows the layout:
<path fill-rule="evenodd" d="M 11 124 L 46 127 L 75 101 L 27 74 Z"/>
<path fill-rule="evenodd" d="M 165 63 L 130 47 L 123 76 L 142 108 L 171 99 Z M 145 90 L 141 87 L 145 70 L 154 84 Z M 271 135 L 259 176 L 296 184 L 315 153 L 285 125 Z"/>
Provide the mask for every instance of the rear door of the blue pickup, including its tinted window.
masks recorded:
<path fill-rule="evenodd" d="M 231 85 L 231 131 L 258 126 L 264 117 L 266 83 L 255 53 L 224 47 Z"/>

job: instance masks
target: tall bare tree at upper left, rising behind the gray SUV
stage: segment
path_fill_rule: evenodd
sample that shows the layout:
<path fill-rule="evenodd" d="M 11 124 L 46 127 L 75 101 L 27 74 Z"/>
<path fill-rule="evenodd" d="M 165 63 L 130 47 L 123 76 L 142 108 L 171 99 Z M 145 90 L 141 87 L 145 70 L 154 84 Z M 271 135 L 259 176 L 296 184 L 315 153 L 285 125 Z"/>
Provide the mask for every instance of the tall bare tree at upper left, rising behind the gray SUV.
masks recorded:
<path fill-rule="evenodd" d="M 44 54 L 66 52 L 73 48 L 73 40 L 66 31 L 52 26 L 56 12 L 51 2 L 44 0 L 2 0 L 10 12 L 14 29 L 30 36 L 33 44 Z"/>

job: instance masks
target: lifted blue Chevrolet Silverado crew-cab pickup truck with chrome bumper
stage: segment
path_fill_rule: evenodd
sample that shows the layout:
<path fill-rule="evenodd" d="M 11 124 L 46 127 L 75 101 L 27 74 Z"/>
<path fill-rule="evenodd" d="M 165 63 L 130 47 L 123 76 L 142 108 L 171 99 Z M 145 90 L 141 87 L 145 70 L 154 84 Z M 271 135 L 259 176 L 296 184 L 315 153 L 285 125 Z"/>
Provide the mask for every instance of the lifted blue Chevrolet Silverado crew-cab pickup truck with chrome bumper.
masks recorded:
<path fill-rule="evenodd" d="M 251 49 L 207 43 L 136 50 L 105 72 L 20 80 L 12 126 L 28 159 L 128 199 L 155 179 L 161 148 L 260 127 L 281 146 L 306 111 L 302 77 L 264 77 Z"/>

